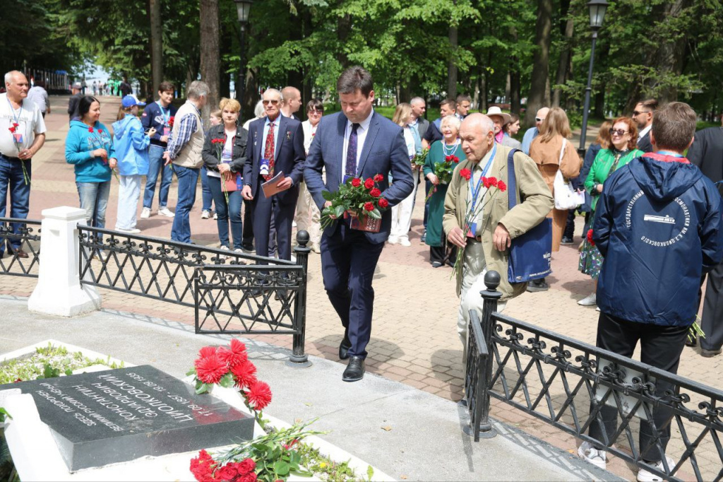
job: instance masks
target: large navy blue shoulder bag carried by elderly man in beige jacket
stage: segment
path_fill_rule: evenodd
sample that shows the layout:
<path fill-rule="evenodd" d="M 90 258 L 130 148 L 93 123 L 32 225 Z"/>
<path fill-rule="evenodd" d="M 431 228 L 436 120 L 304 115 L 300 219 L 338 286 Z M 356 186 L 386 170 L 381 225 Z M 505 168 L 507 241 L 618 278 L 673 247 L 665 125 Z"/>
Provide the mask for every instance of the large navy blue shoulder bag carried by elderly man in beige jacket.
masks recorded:
<path fill-rule="evenodd" d="M 509 209 L 517 204 L 517 180 L 515 179 L 515 152 L 507 158 Z M 520 234 L 510 242 L 507 279 L 510 283 L 525 283 L 544 278 L 552 273 L 552 219 L 545 218 L 540 224 Z"/>

